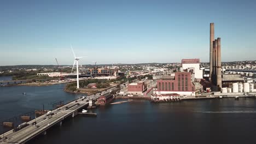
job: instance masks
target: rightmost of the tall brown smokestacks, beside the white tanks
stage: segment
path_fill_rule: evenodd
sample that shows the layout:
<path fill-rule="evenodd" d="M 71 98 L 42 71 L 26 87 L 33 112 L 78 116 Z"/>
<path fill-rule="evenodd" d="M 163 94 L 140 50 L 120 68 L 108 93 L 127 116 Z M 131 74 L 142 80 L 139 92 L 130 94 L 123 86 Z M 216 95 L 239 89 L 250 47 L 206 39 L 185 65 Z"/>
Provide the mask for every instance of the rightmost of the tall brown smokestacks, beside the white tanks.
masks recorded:
<path fill-rule="evenodd" d="M 220 49 L 220 38 L 217 39 L 218 41 L 218 59 L 217 59 L 217 86 L 222 88 L 222 52 Z"/>

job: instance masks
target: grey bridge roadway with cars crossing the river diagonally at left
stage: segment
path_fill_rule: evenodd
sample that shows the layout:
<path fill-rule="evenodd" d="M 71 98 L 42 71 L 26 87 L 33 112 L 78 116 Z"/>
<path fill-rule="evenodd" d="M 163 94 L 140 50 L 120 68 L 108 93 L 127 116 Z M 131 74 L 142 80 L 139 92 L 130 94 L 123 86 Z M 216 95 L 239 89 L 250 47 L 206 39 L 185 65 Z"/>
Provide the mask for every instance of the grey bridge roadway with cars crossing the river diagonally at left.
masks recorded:
<path fill-rule="evenodd" d="M 52 115 L 51 117 L 46 116 L 45 114 L 36 118 L 36 125 L 38 125 L 38 127 L 32 125 L 32 123 L 35 121 L 33 119 L 32 121 L 27 122 L 29 125 L 25 128 L 22 128 L 21 130 L 18 130 L 16 132 L 10 130 L 7 133 L 4 133 L 4 137 L 7 137 L 7 139 L 5 139 L 5 142 L 1 143 L 25 143 L 28 140 L 31 140 L 33 137 L 44 133 L 44 131 L 46 131 L 53 125 L 58 123 L 60 124 L 63 119 L 72 115 L 77 115 L 78 110 L 89 104 L 89 99 L 96 100 L 101 96 L 101 94 L 109 93 L 110 91 L 113 91 L 113 89 L 115 89 L 115 87 L 109 88 L 103 92 L 89 95 L 85 99 L 79 98 L 71 101 L 71 103 L 63 105 L 59 107 L 59 109 L 53 110 L 52 112 L 54 113 L 54 115 Z M 66 110 L 66 107 L 69 107 L 69 109 Z M 3 135 L 1 135 L 1 137 L 3 137 Z"/>

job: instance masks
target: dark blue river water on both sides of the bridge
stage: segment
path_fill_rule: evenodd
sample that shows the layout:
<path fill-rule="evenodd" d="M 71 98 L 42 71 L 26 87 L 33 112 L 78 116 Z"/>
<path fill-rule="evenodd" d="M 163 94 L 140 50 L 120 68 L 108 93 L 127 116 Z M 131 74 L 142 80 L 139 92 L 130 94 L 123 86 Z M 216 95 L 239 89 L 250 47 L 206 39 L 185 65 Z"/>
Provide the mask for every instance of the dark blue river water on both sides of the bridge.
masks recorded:
<path fill-rule="evenodd" d="M 51 108 L 51 101 L 80 97 L 63 92 L 63 87 L 0 87 L 0 118 L 40 109 L 42 103 Z M 28 143 L 256 143 L 255 98 L 161 104 L 133 100 L 91 112 L 97 117 L 66 119 L 61 127 Z"/>

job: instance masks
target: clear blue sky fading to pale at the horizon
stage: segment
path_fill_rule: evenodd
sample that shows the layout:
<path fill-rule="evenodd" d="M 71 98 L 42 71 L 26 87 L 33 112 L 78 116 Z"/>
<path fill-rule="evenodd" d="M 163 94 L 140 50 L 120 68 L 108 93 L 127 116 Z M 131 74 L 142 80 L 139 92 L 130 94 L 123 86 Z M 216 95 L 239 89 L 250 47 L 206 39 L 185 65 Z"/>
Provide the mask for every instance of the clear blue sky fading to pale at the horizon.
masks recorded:
<path fill-rule="evenodd" d="M 0 1 L 0 65 L 256 60 L 256 1 Z"/>

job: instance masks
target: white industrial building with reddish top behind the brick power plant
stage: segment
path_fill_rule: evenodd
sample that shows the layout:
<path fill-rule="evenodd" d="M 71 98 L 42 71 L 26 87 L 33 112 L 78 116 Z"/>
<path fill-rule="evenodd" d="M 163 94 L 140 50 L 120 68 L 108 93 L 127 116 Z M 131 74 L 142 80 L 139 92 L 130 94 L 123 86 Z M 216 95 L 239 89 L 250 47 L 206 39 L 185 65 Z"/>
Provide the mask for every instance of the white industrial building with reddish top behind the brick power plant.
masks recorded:
<path fill-rule="evenodd" d="M 193 70 L 193 74 L 195 75 L 195 79 L 202 79 L 203 70 L 200 69 L 200 59 L 199 58 L 182 59 L 182 68 L 183 68 L 183 70 L 185 70 L 185 69 Z"/>

